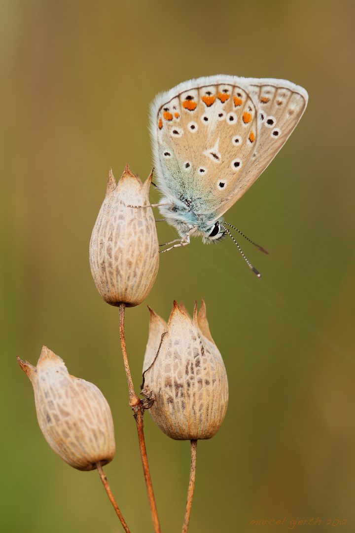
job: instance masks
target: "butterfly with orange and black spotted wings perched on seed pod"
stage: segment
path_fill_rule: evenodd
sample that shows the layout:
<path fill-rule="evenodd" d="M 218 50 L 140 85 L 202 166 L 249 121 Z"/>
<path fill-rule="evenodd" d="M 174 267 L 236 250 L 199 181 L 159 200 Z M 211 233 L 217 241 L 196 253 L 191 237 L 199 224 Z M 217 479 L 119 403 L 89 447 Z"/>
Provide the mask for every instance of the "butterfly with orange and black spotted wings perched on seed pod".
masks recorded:
<path fill-rule="evenodd" d="M 159 207 L 181 237 L 171 248 L 191 236 L 207 243 L 232 236 L 222 215 L 274 159 L 307 102 L 307 91 L 292 82 L 227 75 L 156 96 L 150 130 Z"/>

